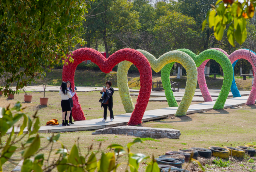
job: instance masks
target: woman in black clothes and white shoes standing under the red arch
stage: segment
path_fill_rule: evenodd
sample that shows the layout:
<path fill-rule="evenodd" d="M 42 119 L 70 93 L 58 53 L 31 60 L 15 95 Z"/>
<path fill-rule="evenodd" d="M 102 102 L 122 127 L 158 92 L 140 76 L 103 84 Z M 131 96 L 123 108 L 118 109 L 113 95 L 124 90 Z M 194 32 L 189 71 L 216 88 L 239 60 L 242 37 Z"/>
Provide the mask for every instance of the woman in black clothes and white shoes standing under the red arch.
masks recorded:
<path fill-rule="evenodd" d="M 103 106 L 104 108 L 104 114 L 103 114 L 103 122 L 106 121 L 106 115 L 107 115 L 107 110 L 109 107 L 109 112 L 110 112 L 110 119 L 111 121 L 114 121 L 114 114 L 113 114 L 113 94 L 114 94 L 114 88 L 111 87 L 112 83 L 111 81 L 106 82 L 106 88 L 103 87 L 103 89 L 100 91 L 102 94 L 102 103 L 101 107 Z"/>

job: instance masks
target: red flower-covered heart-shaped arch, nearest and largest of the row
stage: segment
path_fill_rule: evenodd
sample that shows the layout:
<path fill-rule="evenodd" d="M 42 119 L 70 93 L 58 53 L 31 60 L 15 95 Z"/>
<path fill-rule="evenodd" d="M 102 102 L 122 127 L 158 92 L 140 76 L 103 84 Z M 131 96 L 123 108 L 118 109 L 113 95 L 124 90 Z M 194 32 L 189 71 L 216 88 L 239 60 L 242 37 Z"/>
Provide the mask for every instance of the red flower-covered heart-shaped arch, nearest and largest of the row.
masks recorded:
<path fill-rule="evenodd" d="M 73 90 L 75 87 L 75 69 L 77 65 L 83 61 L 90 60 L 91 62 L 97 64 L 100 70 L 104 73 L 111 72 L 112 68 L 122 61 L 129 61 L 133 63 L 140 72 L 141 88 L 137 99 L 137 104 L 131 114 L 128 125 L 138 125 L 141 123 L 148 100 L 150 98 L 152 86 L 152 70 L 150 63 L 142 53 L 133 49 L 126 48 L 116 51 L 108 59 L 106 59 L 99 51 L 91 48 L 81 48 L 73 51 L 69 56 L 74 59 L 74 62 L 71 63 L 68 59 L 66 60 L 66 63 L 69 65 L 63 66 L 62 80 L 70 81 Z M 74 107 L 72 110 L 72 115 L 74 120 L 86 120 L 76 94 L 73 97 L 73 101 Z"/>

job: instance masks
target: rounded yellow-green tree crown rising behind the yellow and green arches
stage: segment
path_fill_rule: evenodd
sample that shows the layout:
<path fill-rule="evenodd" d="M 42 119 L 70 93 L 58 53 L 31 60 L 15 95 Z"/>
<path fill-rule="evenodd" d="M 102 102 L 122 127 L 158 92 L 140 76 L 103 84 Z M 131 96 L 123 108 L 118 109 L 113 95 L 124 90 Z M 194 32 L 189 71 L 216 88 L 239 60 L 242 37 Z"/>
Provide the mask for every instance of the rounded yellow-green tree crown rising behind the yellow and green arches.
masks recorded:
<path fill-rule="evenodd" d="M 156 38 L 155 54 L 161 55 L 179 48 L 197 51 L 200 47 L 200 36 L 195 28 L 196 22 L 192 17 L 175 11 L 160 17 L 153 30 Z"/>

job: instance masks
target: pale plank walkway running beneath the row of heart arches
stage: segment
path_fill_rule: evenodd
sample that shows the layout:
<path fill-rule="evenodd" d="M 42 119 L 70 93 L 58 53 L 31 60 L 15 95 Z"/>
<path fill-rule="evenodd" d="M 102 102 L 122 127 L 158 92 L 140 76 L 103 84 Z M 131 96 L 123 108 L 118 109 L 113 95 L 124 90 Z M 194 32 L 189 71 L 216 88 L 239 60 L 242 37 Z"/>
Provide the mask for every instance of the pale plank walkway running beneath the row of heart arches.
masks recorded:
<path fill-rule="evenodd" d="M 224 109 L 230 107 L 237 107 L 244 105 L 248 99 L 248 96 L 237 97 L 237 98 L 230 98 L 227 99 Z M 213 109 L 213 102 L 204 102 L 199 104 L 193 104 L 189 106 L 187 114 L 198 113 L 202 111 L 208 111 Z M 160 118 L 166 118 L 170 116 L 174 116 L 178 107 L 167 107 L 162 109 L 155 109 L 155 110 L 147 110 L 144 113 L 142 121 L 150 121 Z M 62 126 L 61 124 L 58 126 L 41 126 L 39 129 L 39 133 L 54 133 L 54 132 L 71 132 L 71 131 L 84 131 L 84 130 L 97 130 L 105 127 L 115 127 L 115 126 L 122 126 L 126 125 L 130 119 L 131 113 L 126 113 L 122 115 L 114 116 L 114 121 L 110 122 L 108 117 L 107 122 L 101 122 L 102 118 L 100 119 L 93 119 L 93 120 L 86 120 L 86 121 L 76 121 L 74 125 L 71 126 Z M 27 129 L 25 128 L 24 132 Z M 8 131 L 7 134 L 10 134 L 11 130 Z M 15 133 L 18 133 L 19 129 L 15 127 Z"/>

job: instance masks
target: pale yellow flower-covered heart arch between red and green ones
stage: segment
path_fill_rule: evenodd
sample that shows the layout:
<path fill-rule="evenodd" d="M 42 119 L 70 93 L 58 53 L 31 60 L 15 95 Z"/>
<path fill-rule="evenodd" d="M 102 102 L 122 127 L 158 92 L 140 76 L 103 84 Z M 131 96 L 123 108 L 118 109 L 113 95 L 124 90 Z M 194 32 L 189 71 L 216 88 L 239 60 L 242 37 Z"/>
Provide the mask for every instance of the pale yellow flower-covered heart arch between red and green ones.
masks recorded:
<path fill-rule="evenodd" d="M 186 115 L 187 109 L 196 91 L 196 84 L 197 84 L 197 69 L 193 59 L 189 55 L 181 51 L 170 51 L 168 53 L 161 55 L 158 59 L 156 59 L 152 54 L 144 50 L 137 50 L 137 51 L 140 51 L 142 54 L 145 55 L 145 57 L 150 62 L 152 69 L 156 72 L 159 72 L 166 64 L 172 63 L 173 65 L 173 62 L 178 62 L 185 67 L 185 69 L 187 70 L 187 84 L 186 84 L 184 96 L 182 98 L 180 106 L 176 111 L 175 116 Z M 131 111 L 133 108 L 133 103 L 131 101 L 129 88 L 127 84 L 127 72 L 130 66 L 131 66 L 131 63 L 124 61 L 118 65 L 118 70 L 117 70 L 117 84 L 118 84 L 119 94 L 123 104 L 125 103 L 124 106 L 127 112 Z M 169 71 L 169 74 L 170 74 L 170 71 Z M 168 79 L 166 78 L 166 80 L 170 82 L 169 76 L 168 76 Z M 165 83 L 165 82 L 167 81 L 162 80 L 162 83 Z M 168 104 L 171 104 L 172 106 L 177 106 L 177 103 L 173 96 L 171 88 L 169 91 L 170 91 L 169 92 L 170 94 L 167 94 Z"/>

